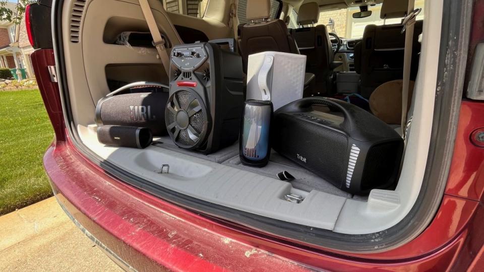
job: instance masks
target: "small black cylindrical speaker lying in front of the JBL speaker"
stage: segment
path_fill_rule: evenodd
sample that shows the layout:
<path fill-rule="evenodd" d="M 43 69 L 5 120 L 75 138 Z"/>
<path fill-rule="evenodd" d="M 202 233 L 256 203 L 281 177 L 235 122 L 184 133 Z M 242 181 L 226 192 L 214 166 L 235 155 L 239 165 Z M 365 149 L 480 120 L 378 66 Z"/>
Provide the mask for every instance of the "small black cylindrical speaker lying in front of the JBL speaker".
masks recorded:
<path fill-rule="evenodd" d="M 151 145 L 153 134 L 146 127 L 102 125 L 97 128 L 97 139 L 108 146 L 146 148 Z"/>

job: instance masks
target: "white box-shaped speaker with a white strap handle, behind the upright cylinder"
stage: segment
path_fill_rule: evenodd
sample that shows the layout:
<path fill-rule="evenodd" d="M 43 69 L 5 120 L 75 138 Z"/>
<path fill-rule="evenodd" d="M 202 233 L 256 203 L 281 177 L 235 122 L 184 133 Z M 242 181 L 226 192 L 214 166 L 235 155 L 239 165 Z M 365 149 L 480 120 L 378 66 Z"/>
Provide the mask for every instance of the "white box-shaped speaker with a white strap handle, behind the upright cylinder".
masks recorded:
<path fill-rule="evenodd" d="M 270 100 L 274 110 L 302 98 L 306 56 L 267 51 L 249 55 L 247 99 Z"/>

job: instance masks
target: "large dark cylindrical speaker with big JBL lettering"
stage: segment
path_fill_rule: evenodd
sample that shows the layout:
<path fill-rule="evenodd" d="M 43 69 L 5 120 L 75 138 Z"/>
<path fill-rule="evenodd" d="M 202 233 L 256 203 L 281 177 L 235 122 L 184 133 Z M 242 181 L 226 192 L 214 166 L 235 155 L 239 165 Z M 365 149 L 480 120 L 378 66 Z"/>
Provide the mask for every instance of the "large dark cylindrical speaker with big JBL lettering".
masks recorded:
<path fill-rule="evenodd" d="M 134 93 L 102 98 L 96 106 L 96 123 L 148 127 L 154 135 L 166 135 L 165 105 L 168 93 Z"/>

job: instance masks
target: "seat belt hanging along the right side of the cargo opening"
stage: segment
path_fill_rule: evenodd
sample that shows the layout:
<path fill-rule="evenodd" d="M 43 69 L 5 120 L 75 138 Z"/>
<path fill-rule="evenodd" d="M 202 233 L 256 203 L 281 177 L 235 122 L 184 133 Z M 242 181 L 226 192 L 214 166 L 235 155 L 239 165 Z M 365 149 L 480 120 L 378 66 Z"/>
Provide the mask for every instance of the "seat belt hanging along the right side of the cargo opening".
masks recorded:
<path fill-rule="evenodd" d="M 402 33 L 405 32 L 405 50 L 403 60 L 403 88 L 402 88 L 402 137 L 405 139 L 406 132 L 410 123 L 407 124 L 407 108 L 408 108 L 408 93 L 410 85 L 410 69 L 412 64 L 412 45 L 413 45 L 413 30 L 415 18 L 420 13 L 421 9 L 414 10 L 414 0 L 408 1 L 407 16 L 403 19 Z M 410 98 L 411 99 L 411 98 Z"/>

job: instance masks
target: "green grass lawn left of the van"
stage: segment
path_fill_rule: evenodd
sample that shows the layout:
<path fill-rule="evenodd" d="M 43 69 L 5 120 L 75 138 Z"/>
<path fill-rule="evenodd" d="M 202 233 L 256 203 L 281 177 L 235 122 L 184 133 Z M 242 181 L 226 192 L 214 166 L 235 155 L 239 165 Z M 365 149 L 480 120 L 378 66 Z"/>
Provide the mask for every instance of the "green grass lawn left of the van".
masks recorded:
<path fill-rule="evenodd" d="M 39 90 L 0 91 L 0 215 L 52 195 L 42 165 L 52 139 Z"/>

